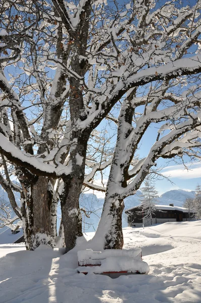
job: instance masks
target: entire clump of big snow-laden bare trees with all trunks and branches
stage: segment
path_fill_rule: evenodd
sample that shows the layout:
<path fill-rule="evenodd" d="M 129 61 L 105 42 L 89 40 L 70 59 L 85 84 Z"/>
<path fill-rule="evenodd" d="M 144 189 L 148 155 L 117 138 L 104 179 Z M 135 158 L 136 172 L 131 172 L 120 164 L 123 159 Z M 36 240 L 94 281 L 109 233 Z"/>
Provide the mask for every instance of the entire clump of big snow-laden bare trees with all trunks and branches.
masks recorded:
<path fill-rule="evenodd" d="M 74 247 L 82 235 L 83 185 L 106 191 L 96 236 L 105 248 L 122 247 L 123 199 L 136 192 L 158 158 L 197 152 L 200 6 L 1 2 L 0 181 L 23 221 L 27 249 L 41 242 L 54 246 L 59 198 L 66 249 Z M 120 104 L 117 120 L 111 110 Z M 103 119 L 118 123 L 112 164 L 87 159 L 89 139 Z M 138 161 L 136 150 L 153 123 L 160 128 L 156 142 Z M 93 184 L 109 165 L 107 189 Z"/>

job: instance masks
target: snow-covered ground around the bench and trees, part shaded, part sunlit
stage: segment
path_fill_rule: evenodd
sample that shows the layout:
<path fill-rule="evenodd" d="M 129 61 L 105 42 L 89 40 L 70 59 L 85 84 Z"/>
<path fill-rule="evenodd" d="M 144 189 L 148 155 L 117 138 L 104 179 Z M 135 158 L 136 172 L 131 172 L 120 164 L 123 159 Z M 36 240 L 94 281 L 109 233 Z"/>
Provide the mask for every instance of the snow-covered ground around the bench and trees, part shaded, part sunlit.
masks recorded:
<path fill-rule="evenodd" d="M 75 251 L 63 255 L 63 249 L 26 251 L 23 244 L 2 244 L 0 302 L 201 302 L 201 221 L 125 228 L 124 240 L 124 248 L 142 248 L 148 275 L 85 276 L 76 273 Z"/>

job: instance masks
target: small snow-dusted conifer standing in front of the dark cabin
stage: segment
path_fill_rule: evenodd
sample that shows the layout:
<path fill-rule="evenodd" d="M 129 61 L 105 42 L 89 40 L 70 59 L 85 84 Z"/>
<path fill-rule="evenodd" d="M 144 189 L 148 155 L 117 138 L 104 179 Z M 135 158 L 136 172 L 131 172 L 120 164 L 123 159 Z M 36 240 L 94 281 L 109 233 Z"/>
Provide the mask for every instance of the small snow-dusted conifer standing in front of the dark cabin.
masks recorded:
<path fill-rule="evenodd" d="M 151 225 L 153 224 L 153 215 L 156 212 L 156 202 L 158 198 L 158 191 L 155 188 L 155 185 L 152 181 L 150 181 L 149 178 L 146 178 L 144 181 L 144 187 L 141 189 L 141 207 L 143 212 L 143 218 L 148 219 L 151 222 Z"/>

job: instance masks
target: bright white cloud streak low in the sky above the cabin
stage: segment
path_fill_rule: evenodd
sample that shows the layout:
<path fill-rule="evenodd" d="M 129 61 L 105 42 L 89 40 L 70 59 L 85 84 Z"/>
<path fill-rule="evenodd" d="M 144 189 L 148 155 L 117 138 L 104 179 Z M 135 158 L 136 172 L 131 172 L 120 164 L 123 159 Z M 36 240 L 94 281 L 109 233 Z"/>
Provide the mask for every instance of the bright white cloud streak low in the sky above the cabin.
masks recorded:
<path fill-rule="evenodd" d="M 187 163 L 188 170 L 182 164 L 169 166 L 163 169 L 162 174 L 170 178 L 193 179 L 201 177 L 200 163 Z"/>

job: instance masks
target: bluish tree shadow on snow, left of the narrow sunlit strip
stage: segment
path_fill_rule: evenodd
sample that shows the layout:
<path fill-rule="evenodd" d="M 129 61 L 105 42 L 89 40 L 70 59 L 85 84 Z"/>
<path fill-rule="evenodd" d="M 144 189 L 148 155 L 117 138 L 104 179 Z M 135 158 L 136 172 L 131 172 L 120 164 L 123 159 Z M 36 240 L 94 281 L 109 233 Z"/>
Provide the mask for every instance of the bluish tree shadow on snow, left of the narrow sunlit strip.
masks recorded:
<path fill-rule="evenodd" d="M 49 302 L 49 272 L 59 253 L 42 246 L 34 251 L 12 252 L 0 259 L 0 302 Z"/>

